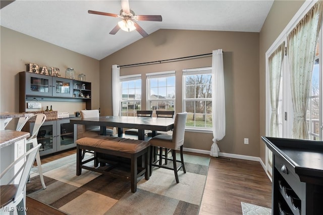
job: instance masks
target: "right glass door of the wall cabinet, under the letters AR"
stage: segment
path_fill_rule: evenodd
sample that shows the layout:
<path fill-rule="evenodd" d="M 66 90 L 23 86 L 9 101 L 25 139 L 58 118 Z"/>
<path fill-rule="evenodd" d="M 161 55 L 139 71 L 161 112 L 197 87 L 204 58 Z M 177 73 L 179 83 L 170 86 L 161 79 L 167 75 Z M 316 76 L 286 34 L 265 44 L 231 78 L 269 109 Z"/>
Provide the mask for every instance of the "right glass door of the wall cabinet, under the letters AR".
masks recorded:
<path fill-rule="evenodd" d="M 63 79 L 58 77 L 52 78 L 53 96 L 57 97 L 72 97 L 73 95 L 73 80 Z"/>

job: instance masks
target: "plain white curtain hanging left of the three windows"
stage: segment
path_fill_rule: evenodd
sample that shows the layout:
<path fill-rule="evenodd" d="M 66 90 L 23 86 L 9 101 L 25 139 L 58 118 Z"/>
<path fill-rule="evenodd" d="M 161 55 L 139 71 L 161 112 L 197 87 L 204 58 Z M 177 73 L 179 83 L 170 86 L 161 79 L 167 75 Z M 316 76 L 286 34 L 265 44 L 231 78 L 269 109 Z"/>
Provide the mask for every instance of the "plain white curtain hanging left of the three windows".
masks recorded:
<path fill-rule="evenodd" d="M 114 116 L 119 116 L 120 112 L 120 67 L 112 65 L 112 111 Z M 113 128 L 114 133 L 117 128 Z"/>

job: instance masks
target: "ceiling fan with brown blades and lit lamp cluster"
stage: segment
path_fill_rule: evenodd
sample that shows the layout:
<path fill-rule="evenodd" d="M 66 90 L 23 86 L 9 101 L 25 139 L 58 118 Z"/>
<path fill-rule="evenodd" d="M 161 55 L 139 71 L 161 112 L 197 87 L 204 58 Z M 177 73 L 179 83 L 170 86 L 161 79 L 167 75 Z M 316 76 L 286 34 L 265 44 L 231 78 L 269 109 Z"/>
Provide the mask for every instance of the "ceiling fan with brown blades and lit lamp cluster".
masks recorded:
<path fill-rule="evenodd" d="M 135 15 L 135 13 L 130 10 L 129 8 L 129 0 L 121 0 L 121 8 L 120 15 L 118 14 L 110 14 L 105 12 L 98 12 L 98 11 L 91 11 L 89 10 L 89 14 L 97 14 L 109 17 L 117 17 L 121 18 L 122 20 L 118 22 L 118 25 L 112 29 L 109 34 L 116 34 L 119 29 L 124 31 L 134 31 L 137 30 L 141 36 L 146 37 L 148 36 L 147 32 L 145 32 L 137 23 L 136 21 L 157 21 L 161 22 L 163 19 L 160 15 Z"/>

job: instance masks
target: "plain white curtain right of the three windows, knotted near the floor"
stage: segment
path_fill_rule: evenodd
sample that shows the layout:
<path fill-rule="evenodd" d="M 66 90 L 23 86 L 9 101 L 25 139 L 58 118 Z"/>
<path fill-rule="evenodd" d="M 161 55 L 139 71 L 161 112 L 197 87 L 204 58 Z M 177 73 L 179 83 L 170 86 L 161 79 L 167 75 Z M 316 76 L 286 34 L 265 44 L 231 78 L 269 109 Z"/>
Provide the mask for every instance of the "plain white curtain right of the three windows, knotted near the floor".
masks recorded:
<path fill-rule="evenodd" d="M 212 52 L 212 125 L 213 144 L 210 156 L 219 157 L 217 141 L 226 135 L 226 109 L 224 93 L 224 70 L 222 49 Z"/>

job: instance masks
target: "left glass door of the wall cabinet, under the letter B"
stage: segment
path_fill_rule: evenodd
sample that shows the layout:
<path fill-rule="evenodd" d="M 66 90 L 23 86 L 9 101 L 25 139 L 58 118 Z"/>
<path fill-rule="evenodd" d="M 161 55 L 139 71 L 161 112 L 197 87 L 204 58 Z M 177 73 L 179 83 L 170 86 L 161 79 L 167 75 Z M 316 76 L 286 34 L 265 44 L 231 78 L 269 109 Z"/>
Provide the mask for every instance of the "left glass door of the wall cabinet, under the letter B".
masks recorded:
<path fill-rule="evenodd" d="M 50 76 L 26 73 L 26 94 L 51 96 L 52 79 Z"/>

